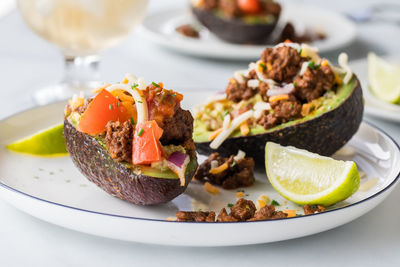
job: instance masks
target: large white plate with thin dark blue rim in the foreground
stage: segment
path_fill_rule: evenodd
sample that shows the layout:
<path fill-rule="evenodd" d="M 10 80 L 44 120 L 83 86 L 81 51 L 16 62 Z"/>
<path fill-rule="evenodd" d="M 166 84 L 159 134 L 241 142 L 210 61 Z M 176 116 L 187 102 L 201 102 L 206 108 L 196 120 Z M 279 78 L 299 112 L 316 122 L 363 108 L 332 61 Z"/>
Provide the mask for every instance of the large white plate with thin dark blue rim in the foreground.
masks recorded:
<path fill-rule="evenodd" d="M 185 94 L 192 106 L 207 93 Z M 34 108 L 0 122 L 0 197 L 42 220 L 84 233 L 144 243 L 185 246 L 232 246 L 273 242 L 326 231 L 348 223 L 382 202 L 393 190 L 400 173 L 400 152 L 380 130 L 363 123 L 350 141 L 353 159 L 367 173 L 379 178 L 366 192 L 357 192 L 325 213 L 274 221 L 240 223 L 182 223 L 166 221 L 180 210 L 216 210 L 236 201 L 236 190 L 210 195 L 193 182 L 185 194 L 158 206 L 137 206 L 114 198 L 88 182 L 68 157 L 40 158 L 7 151 L 5 144 L 62 120 L 64 103 Z M 203 159 L 204 157 L 202 157 Z M 256 173 L 255 185 L 245 196 L 256 200 L 268 195 L 279 209 L 301 207 L 285 201 Z M 235 234 L 232 234 L 235 233 Z"/>

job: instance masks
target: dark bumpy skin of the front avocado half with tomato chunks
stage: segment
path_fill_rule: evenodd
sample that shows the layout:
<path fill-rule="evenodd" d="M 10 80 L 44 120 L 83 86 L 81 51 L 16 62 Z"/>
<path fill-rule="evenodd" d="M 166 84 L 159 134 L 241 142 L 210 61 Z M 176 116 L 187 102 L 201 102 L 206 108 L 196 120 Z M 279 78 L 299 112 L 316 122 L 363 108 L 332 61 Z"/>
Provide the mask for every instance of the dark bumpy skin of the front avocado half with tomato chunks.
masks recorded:
<path fill-rule="evenodd" d="M 97 140 L 81 133 L 64 120 L 67 150 L 75 166 L 86 178 L 107 193 L 134 204 L 166 203 L 182 194 L 190 183 L 196 168 L 186 173 L 185 186 L 179 179 L 136 175 L 123 164 L 114 161 Z"/>

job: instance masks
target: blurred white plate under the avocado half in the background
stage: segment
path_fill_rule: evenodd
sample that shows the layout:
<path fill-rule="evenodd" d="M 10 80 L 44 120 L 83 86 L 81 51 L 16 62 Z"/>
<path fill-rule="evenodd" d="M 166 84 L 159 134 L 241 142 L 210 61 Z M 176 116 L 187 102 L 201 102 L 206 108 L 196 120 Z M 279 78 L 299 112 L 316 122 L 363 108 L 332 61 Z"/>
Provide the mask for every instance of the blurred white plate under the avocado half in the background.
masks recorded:
<path fill-rule="evenodd" d="M 356 27 L 343 15 L 329 10 L 305 5 L 285 4 L 279 25 L 294 22 L 297 28 L 321 29 L 325 40 L 316 41 L 321 52 L 327 52 L 350 44 L 356 37 Z M 178 52 L 210 58 L 253 60 L 260 56 L 267 45 L 238 45 L 219 40 L 204 27 L 200 39 L 184 37 L 175 31 L 177 26 L 191 23 L 199 25 L 186 9 L 163 10 L 150 14 L 143 22 L 142 30 L 153 43 Z"/>

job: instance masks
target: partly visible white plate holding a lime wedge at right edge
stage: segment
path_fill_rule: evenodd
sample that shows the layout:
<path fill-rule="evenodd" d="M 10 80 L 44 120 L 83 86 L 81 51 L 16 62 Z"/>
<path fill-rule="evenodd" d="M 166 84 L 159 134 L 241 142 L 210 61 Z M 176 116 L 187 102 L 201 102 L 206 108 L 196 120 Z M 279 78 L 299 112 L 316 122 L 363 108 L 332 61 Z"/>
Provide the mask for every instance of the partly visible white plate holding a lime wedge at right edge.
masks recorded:
<path fill-rule="evenodd" d="M 385 60 L 392 62 L 400 62 L 400 55 L 385 56 Z M 367 59 L 360 59 L 350 62 L 350 67 L 357 77 L 363 88 L 365 97 L 365 113 L 370 116 L 382 118 L 389 121 L 400 122 L 400 105 L 384 102 L 376 98 L 368 89 L 368 62 Z"/>

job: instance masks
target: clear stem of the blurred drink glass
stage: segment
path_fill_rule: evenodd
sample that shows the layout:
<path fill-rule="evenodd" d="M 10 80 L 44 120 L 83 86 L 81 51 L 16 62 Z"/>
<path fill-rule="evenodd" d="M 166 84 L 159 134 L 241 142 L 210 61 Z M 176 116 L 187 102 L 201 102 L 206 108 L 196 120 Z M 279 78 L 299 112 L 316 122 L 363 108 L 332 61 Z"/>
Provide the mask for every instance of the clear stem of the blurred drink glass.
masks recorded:
<path fill-rule="evenodd" d="M 95 87 L 98 84 L 100 73 L 98 55 L 68 56 L 65 55 L 65 76 L 63 83 L 71 89 L 80 91 Z"/>

